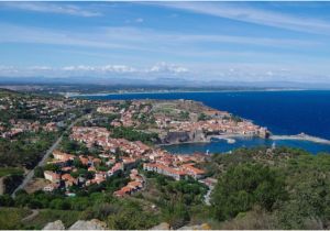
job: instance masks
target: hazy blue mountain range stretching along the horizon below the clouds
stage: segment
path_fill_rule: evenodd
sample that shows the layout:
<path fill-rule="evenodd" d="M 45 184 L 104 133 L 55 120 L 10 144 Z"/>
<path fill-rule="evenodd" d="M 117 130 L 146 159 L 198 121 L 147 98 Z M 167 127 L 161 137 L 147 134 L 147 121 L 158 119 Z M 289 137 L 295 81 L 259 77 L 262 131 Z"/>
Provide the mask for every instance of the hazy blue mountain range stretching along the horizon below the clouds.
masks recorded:
<path fill-rule="evenodd" d="M 142 78 L 106 78 L 106 77 L 0 77 L 0 85 L 101 85 L 132 87 L 179 87 L 179 88 L 294 88 L 294 89 L 330 89 L 330 82 L 296 82 L 296 81 L 223 81 L 191 80 L 188 78 L 162 77 Z"/>

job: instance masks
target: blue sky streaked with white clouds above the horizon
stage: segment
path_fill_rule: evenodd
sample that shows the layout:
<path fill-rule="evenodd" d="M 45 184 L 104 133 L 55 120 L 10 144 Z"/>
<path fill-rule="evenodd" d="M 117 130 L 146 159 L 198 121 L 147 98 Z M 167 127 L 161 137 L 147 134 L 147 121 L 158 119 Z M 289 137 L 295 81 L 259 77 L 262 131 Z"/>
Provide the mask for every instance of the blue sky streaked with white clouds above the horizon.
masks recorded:
<path fill-rule="evenodd" d="M 0 2 L 0 78 L 330 82 L 330 2 Z"/>

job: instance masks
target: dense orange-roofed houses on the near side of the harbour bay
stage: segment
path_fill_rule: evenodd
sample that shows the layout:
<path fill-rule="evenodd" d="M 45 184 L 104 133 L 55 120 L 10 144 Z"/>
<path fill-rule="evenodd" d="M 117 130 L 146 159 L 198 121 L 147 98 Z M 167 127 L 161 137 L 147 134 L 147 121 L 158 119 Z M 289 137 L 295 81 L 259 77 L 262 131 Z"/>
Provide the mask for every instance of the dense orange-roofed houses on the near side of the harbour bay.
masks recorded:
<path fill-rule="evenodd" d="M 61 170 L 44 172 L 44 177 L 51 182 L 44 190 L 52 191 L 57 188 L 66 188 L 67 191 L 73 185 L 86 187 L 91 184 L 101 184 L 120 170 L 132 169 L 139 162 L 143 162 L 144 170 L 152 170 L 173 177 L 176 180 L 184 179 L 188 176 L 200 179 L 205 172 L 195 167 L 195 163 L 202 162 L 205 155 L 173 155 L 161 148 L 150 147 L 142 142 L 130 142 L 125 139 L 112 139 L 111 133 L 98 127 L 74 127 L 70 138 L 84 142 L 87 146 L 99 145 L 103 148 L 98 157 L 90 155 L 72 155 L 59 151 L 54 151 L 54 158 L 48 164 L 59 166 Z M 120 156 L 118 152 L 120 151 Z M 91 177 L 86 178 L 74 174 L 78 170 L 75 166 L 75 160 L 84 165 Z M 98 166 L 106 166 L 99 170 Z M 116 196 L 122 197 L 131 195 L 144 186 L 144 178 L 139 175 L 136 169 L 132 169 L 130 174 L 131 182 L 114 193 Z"/>

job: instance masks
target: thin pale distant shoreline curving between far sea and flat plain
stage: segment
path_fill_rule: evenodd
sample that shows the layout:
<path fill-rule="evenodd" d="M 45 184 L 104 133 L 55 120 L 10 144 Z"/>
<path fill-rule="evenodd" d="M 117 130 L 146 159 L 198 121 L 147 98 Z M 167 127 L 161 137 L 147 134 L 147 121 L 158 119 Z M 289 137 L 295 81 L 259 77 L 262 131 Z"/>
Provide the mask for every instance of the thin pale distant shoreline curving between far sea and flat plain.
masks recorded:
<path fill-rule="evenodd" d="M 123 91 L 123 92 L 99 92 L 99 94 L 76 94 L 76 92 L 62 92 L 61 95 L 74 98 L 74 97 L 103 97 L 116 95 L 153 95 L 153 94 L 218 94 L 218 92 L 272 92 L 272 91 L 308 91 L 309 89 L 296 89 L 296 88 L 270 88 L 270 89 L 244 89 L 244 90 L 160 90 L 160 91 Z"/>

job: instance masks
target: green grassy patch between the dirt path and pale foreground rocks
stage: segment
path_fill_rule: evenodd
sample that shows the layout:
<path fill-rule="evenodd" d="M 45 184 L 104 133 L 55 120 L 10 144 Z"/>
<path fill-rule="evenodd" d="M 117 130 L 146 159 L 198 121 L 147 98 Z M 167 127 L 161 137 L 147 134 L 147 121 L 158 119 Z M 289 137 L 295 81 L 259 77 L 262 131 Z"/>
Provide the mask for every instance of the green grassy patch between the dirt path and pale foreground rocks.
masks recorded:
<path fill-rule="evenodd" d="M 25 223 L 25 227 L 29 229 L 43 229 L 48 222 L 62 220 L 65 228 L 68 228 L 79 220 L 80 215 L 80 211 L 45 209 L 41 210 L 29 223 Z"/>

